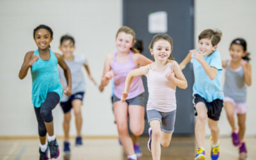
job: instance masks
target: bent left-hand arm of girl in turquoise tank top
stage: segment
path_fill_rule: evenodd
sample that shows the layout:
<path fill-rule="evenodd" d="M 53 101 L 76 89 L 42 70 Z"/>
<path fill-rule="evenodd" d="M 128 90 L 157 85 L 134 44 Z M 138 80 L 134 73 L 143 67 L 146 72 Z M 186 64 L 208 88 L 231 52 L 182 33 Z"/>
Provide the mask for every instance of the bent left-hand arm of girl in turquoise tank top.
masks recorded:
<path fill-rule="evenodd" d="M 22 64 L 22 66 L 20 68 L 20 72 L 19 72 L 20 79 L 24 79 L 24 77 L 27 76 L 29 67 L 31 67 L 35 63 L 35 61 L 38 60 L 39 57 L 36 55 L 33 55 L 33 54 L 34 54 L 33 51 L 29 51 L 26 53 L 26 55 L 24 57 L 23 64 Z"/>

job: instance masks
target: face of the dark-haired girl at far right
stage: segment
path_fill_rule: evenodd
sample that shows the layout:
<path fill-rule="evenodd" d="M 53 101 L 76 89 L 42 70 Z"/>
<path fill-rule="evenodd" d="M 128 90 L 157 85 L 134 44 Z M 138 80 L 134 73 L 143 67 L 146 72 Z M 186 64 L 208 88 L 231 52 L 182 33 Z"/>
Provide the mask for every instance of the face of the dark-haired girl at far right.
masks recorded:
<path fill-rule="evenodd" d="M 232 44 L 230 46 L 229 52 L 232 61 L 240 61 L 243 56 L 246 55 L 246 51 L 244 51 L 243 46 L 239 44 Z"/>

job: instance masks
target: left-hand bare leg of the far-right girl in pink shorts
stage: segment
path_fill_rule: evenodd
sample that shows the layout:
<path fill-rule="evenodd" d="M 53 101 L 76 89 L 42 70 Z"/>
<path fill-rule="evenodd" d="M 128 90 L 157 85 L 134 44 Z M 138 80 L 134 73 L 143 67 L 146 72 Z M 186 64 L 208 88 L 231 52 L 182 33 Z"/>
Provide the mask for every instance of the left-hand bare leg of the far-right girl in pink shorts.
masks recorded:
<path fill-rule="evenodd" d="M 236 131 L 236 123 L 235 123 L 235 107 L 232 104 L 232 102 L 228 102 L 226 101 L 224 103 L 224 108 L 227 114 L 227 118 L 228 118 L 228 122 L 230 124 L 230 126 L 232 127 L 232 132 Z"/>

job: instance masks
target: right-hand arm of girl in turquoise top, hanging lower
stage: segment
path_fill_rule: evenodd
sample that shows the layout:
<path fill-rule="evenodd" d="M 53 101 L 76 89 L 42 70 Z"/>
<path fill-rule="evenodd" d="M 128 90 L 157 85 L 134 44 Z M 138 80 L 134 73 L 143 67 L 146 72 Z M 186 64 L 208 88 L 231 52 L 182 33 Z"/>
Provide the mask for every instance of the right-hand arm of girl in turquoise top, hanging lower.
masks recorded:
<path fill-rule="evenodd" d="M 67 87 L 64 89 L 64 93 L 65 95 L 69 96 L 72 94 L 72 77 L 71 77 L 70 69 L 68 68 L 67 63 L 64 61 L 61 54 L 55 53 L 55 56 L 58 59 L 58 64 L 63 69 L 64 76 L 67 81 Z"/>

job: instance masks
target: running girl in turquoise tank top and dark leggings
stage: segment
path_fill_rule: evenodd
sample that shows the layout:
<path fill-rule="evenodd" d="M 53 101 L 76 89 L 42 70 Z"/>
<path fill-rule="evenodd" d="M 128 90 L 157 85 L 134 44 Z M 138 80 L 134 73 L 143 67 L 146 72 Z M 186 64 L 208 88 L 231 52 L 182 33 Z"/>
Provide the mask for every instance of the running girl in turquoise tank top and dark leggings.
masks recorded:
<path fill-rule="evenodd" d="M 19 78 L 24 79 L 31 70 L 32 76 L 32 101 L 38 122 L 38 134 L 40 139 L 40 160 L 48 159 L 48 147 L 51 158 L 60 156 L 58 142 L 56 141 L 53 126 L 52 109 L 60 102 L 63 88 L 58 77 L 58 64 L 63 68 L 67 87 L 66 95 L 71 95 L 71 74 L 61 54 L 50 50 L 52 42 L 52 29 L 40 25 L 34 29 L 33 37 L 38 47 L 36 51 L 26 53 Z M 46 141 L 46 134 L 48 141 Z"/>

